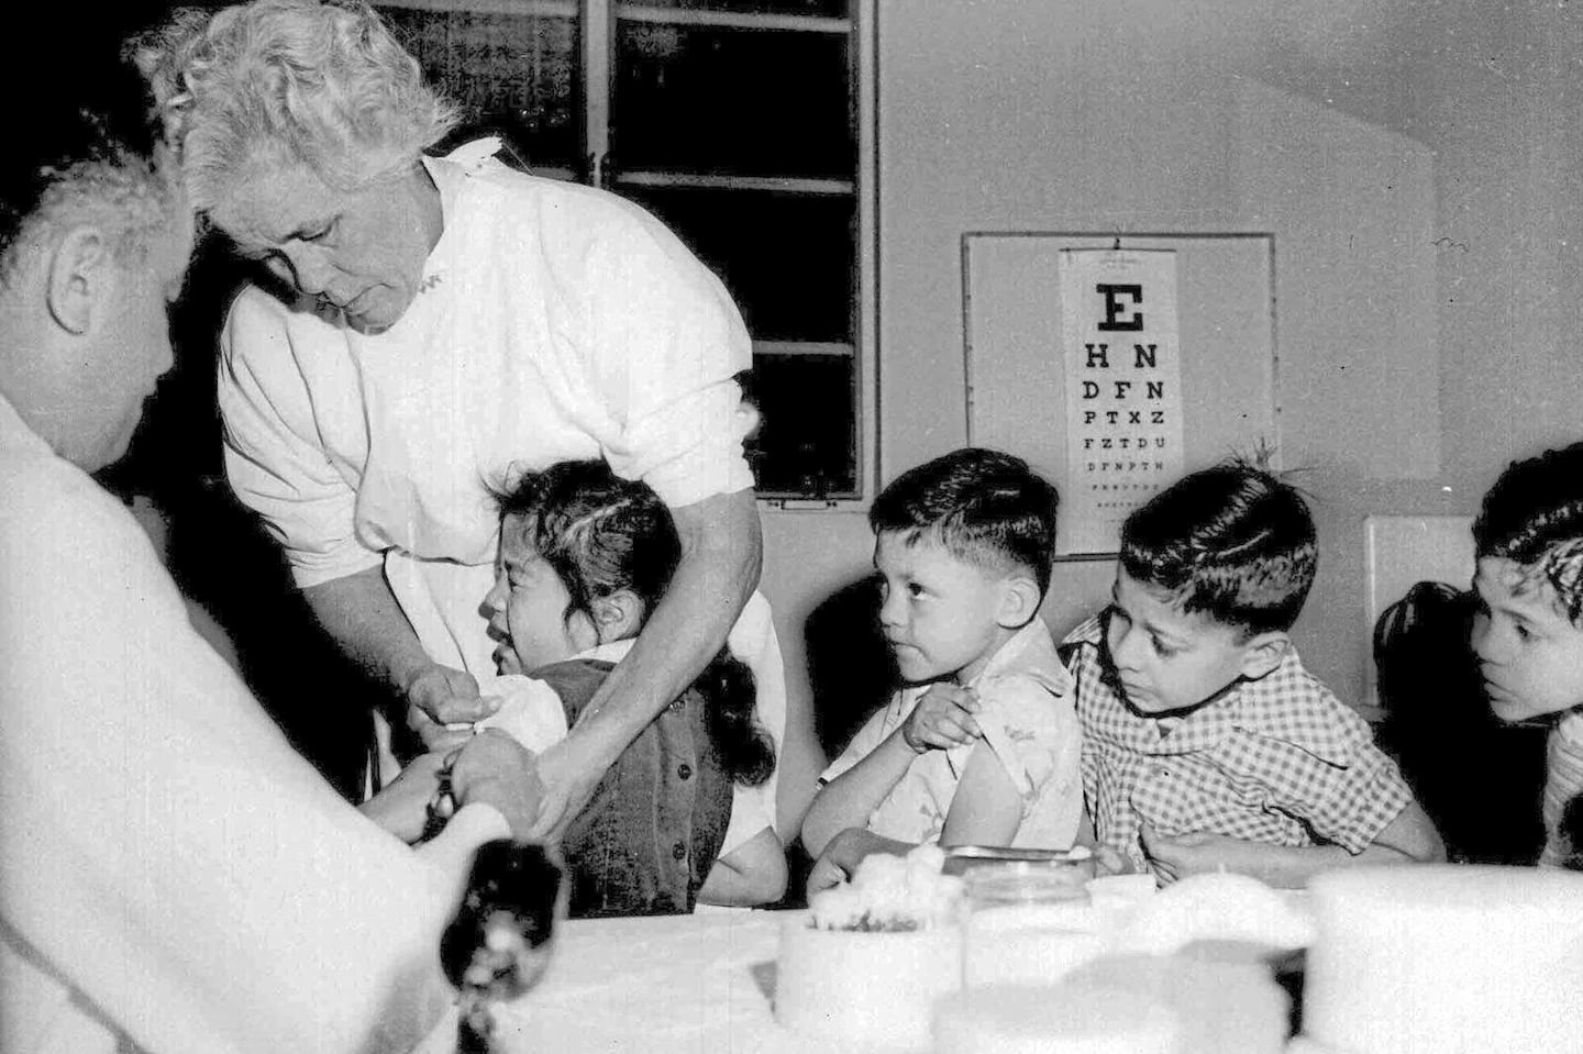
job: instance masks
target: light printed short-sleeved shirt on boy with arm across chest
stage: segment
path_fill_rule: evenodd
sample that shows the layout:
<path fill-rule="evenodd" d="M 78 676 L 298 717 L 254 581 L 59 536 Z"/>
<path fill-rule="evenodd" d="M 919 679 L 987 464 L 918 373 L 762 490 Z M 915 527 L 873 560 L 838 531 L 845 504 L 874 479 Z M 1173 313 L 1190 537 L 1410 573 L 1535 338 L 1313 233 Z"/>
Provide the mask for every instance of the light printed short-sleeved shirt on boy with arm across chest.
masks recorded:
<path fill-rule="evenodd" d="M 1070 848 L 1083 820 L 1081 734 L 1067 674 L 1045 620 L 1035 617 L 1000 646 L 967 685 L 981 706 L 983 741 L 1023 798 L 1012 845 Z M 874 714 L 818 777 L 828 783 L 871 755 L 912 714 L 929 685 L 904 688 Z M 940 837 L 956 785 L 977 742 L 926 750 L 907 768 L 867 829 L 902 842 Z"/>

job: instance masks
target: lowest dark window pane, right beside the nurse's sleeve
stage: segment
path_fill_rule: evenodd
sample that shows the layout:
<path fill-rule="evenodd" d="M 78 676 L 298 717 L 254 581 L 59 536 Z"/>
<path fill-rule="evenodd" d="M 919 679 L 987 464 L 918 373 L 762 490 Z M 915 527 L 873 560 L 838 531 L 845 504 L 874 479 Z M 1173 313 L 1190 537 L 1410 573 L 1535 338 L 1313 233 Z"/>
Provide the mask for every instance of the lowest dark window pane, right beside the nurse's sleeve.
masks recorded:
<path fill-rule="evenodd" d="M 761 424 L 749 461 L 766 497 L 858 494 L 856 370 L 847 354 L 755 354 L 744 378 Z"/>

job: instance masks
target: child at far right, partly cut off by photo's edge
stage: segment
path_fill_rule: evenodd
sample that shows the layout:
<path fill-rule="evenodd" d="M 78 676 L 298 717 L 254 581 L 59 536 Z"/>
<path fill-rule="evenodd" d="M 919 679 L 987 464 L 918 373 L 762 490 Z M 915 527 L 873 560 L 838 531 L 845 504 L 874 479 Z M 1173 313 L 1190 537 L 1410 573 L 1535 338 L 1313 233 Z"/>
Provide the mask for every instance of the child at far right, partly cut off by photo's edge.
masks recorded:
<path fill-rule="evenodd" d="M 1539 863 L 1562 866 L 1583 848 L 1562 823 L 1583 794 L 1583 443 L 1501 473 L 1474 519 L 1474 555 L 1472 646 L 1490 709 L 1555 722 Z"/>

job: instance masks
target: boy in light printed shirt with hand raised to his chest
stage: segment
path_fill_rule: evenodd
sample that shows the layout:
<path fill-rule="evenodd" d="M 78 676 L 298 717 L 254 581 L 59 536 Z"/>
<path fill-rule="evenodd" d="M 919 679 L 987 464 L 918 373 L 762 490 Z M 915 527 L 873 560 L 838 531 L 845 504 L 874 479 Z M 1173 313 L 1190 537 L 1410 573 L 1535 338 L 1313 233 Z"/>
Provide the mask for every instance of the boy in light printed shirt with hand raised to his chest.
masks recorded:
<path fill-rule="evenodd" d="M 803 821 L 818 858 L 809 893 L 923 842 L 1072 845 L 1072 682 L 1038 617 L 1057 502 L 1026 462 L 988 449 L 920 465 L 875 499 L 880 624 L 905 687 L 820 777 Z"/>

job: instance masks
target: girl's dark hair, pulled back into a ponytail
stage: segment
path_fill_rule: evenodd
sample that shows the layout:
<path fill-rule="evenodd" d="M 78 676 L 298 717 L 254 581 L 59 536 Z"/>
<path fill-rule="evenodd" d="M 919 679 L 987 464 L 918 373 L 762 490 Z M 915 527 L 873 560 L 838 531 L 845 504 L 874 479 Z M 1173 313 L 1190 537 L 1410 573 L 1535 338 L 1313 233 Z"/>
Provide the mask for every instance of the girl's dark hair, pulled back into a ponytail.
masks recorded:
<path fill-rule="evenodd" d="M 518 530 L 567 587 L 562 619 L 594 619 L 594 601 L 632 590 L 644 617 L 665 597 L 682 546 L 676 521 L 646 483 L 622 480 L 603 461 L 564 461 L 526 473 L 499 495 L 502 530 Z M 757 787 L 776 768 L 769 733 L 754 715 L 754 674 L 723 647 L 693 687 L 704 698 L 709 733 L 727 772 Z"/>

